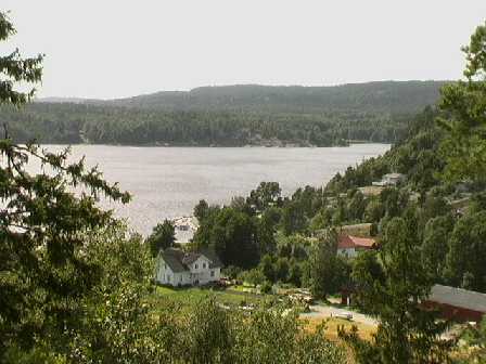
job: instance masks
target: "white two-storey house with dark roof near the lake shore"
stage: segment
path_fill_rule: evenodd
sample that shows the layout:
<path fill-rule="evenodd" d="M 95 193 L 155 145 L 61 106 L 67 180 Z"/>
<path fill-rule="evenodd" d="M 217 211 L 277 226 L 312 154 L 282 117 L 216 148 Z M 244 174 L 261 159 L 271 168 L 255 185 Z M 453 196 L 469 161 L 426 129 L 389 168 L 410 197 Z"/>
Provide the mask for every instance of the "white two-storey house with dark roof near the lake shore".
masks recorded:
<path fill-rule="evenodd" d="M 209 250 L 184 252 L 168 248 L 157 256 L 155 281 L 170 286 L 205 285 L 218 282 L 221 261 Z"/>

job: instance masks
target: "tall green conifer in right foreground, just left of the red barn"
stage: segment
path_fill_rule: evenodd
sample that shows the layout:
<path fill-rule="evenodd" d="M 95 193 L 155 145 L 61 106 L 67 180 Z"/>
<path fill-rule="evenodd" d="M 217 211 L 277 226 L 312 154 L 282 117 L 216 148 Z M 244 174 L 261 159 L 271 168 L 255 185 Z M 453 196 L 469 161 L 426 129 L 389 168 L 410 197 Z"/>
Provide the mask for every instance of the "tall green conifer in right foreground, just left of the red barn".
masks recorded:
<path fill-rule="evenodd" d="M 358 363 L 447 363 L 451 343 L 440 338 L 447 324 L 420 307 L 431 281 L 420 261 L 420 246 L 407 222 L 394 218 L 386 226 L 382 269 L 370 255 L 355 265 L 359 297 L 380 317 L 371 342 L 356 332 L 340 335 L 353 348 Z M 369 270 L 367 269 L 369 268 Z"/>

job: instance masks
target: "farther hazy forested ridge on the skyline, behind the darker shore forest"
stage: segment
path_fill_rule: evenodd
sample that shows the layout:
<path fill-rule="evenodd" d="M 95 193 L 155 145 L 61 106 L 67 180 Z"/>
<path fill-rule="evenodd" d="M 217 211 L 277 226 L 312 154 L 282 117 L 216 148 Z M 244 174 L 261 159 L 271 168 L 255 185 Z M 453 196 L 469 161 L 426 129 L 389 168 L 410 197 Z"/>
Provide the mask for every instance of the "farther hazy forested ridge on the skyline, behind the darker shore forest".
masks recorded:
<path fill-rule="evenodd" d="M 104 102 L 143 108 L 322 113 L 415 113 L 438 99 L 444 81 L 381 81 L 334 87 L 240 84 L 157 92 Z M 93 102 L 93 101 L 92 101 Z"/>

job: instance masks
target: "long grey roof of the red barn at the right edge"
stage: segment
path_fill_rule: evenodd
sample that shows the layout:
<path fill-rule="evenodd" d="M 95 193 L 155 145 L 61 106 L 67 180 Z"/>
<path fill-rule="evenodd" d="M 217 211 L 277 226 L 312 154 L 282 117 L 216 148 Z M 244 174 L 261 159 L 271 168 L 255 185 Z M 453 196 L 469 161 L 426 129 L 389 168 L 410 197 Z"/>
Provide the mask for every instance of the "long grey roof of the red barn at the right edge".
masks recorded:
<path fill-rule="evenodd" d="M 434 285 L 427 300 L 486 313 L 486 294 L 473 290 Z"/>

